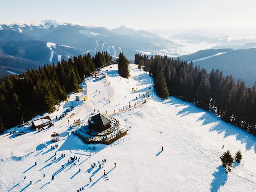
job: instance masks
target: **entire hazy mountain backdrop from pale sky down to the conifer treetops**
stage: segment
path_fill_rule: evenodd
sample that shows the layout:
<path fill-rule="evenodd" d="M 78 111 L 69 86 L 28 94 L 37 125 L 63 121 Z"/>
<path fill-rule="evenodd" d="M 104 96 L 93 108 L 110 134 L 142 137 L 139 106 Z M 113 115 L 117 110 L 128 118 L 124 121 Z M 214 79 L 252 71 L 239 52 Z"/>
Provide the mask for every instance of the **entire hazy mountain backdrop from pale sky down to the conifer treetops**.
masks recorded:
<path fill-rule="evenodd" d="M 94 56 L 98 51 L 107 51 L 113 59 L 123 52 L 128 60 L 134 60 L 137 53 L 193 60 L 208 72 L 212 68 L 220 69 L 225 75 L 243 78 L 252 86 L 255 54 L 249 48 L 256 47 L 256 33 L 249 29 L 248 33 L 246 30 L 243 33 L 235 33 L 235 29 L 229 29 L 234 33 L 218 30 L 137 31 L 125 26 L 107 29 L 54 20 L 0 24 L 0 77 L 20 74 L 79 54 Z"/>

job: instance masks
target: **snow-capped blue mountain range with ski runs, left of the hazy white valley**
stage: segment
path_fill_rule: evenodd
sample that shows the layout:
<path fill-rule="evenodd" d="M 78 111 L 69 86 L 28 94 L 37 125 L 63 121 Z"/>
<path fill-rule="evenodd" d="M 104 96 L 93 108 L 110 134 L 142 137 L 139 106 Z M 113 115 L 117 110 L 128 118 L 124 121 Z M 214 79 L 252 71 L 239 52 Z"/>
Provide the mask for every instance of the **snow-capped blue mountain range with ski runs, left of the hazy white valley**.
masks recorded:
<path fill-rule="evenodd" d="M 57 63 L 79 54 L 120 52 L 129 60 L 135 54 L 169 54 L 180 45 L 146 31 L 121 26 L 117 29 L 81 26 L 45 20 L 0 24 L 0 73 L 21 73 L 47 63 Z M 177 55 L 176 55 L 177 56 Z"/>

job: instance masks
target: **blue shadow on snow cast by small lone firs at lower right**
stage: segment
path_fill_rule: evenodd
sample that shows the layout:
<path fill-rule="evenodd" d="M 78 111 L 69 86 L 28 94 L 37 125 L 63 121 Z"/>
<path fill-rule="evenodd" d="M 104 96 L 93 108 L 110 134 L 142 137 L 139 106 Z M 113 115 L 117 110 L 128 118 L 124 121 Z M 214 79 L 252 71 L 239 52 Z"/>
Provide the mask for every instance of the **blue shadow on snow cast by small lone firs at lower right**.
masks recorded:
<path fill-rule="evenodd" d="M 218 192 L 221 186 L 227 183 L 227 173 L 225 168 L 220 165 L 217 171 L 213 173 L 214 179 L 211 182 L 211 192 Z"/>

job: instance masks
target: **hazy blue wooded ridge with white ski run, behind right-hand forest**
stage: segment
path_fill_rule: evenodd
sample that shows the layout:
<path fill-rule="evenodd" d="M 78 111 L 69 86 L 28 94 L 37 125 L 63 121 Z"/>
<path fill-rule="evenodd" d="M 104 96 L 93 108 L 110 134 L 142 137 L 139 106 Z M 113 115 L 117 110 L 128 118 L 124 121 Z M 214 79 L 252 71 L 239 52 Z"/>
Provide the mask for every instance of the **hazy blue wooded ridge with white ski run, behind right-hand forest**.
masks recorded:
<path fill-rule="evenodd" d="M 181 60 L 191 62 L 207 70 L 212 69 L 223 72 L 224 76 L 232 75 L 235 80 L 244 80 L 245 85 L 252 87 L 256 82 L 256 49 L 208 49 L 193 54 L 180 56 Z"/>

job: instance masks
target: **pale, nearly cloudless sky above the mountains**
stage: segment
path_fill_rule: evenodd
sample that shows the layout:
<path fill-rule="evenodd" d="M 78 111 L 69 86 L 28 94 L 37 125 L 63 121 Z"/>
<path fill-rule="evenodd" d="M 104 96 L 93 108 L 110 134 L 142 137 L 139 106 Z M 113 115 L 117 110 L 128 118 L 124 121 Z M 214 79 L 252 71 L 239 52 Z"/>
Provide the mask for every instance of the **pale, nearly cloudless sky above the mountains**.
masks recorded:
<path fill-rule="evenodd" d="M 256 27 L 255 0 L 0 0 L 0 23 L 61 20 L 135 29 Z"/>

